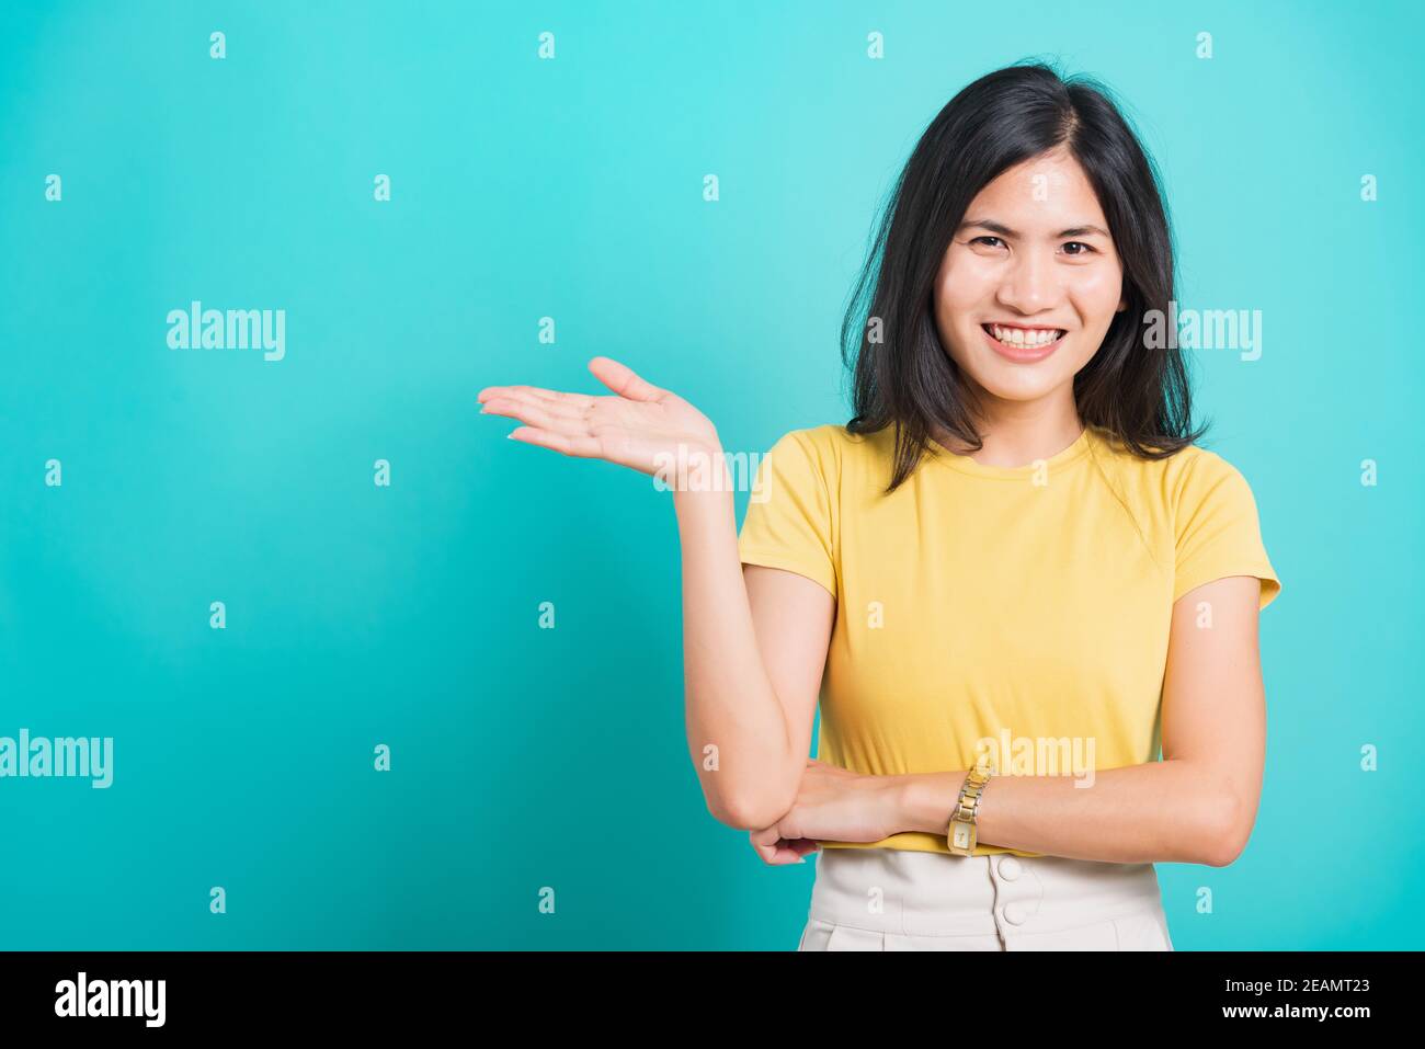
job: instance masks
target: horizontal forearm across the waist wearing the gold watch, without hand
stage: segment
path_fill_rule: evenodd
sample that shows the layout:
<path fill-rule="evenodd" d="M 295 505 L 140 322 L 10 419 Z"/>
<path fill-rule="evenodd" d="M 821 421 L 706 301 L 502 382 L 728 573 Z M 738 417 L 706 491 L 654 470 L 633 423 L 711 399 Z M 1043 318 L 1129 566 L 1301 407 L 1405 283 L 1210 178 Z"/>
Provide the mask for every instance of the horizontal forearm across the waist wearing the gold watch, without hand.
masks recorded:
<path fill-rule="evenodd" d="M 965 772 L 895 777 L 906 831 L 945 834 Z M 1251 832 L 1241 805 L 1201 764 L 1150 761 L 1070 775 L 996 775 L 975 818 L 985 845 L 1100 862 L 1224 867 Z"/>

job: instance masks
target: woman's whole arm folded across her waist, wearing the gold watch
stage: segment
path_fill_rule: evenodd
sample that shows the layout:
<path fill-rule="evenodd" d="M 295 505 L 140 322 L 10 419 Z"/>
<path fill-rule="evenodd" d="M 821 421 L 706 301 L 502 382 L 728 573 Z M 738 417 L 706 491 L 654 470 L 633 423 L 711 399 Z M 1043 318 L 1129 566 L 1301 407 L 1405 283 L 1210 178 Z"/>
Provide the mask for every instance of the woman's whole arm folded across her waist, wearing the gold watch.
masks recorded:
<path fill-rule="evenodd" d="M 980 800 L 979 842 L 1103 862 L 1231 864 L 1257 820 L 1265 760 L 1258 600 L 1254 576 L 1228 576 L 1174 603 L 1161 761 L 1097 771 L 1089 787 L 1069 775 L 996 775 Z M 963 781 L 965 771 L 876 777 L 824 767 L 804 775 L 807 807 L 798 797 L 775 827 L 752 832 L 752 845 L 768 862 L 795 862 L 805 848 L 778 842 L 945 834 Z"/>

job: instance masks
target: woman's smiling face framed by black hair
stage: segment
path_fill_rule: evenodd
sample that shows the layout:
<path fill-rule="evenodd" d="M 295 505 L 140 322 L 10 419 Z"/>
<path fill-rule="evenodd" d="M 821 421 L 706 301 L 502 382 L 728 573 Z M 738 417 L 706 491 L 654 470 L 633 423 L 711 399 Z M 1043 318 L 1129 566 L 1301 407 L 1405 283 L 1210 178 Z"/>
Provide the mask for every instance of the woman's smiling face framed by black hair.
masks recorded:
<path fill-rule="evenodd" d="M 1073 376 L 1126 306 L 1109 222 L 1066 150 L 980 190 L 935 281 L 940 342 L 986 418 L 996 401 L 1063 396 L 1072 406 Z"/>

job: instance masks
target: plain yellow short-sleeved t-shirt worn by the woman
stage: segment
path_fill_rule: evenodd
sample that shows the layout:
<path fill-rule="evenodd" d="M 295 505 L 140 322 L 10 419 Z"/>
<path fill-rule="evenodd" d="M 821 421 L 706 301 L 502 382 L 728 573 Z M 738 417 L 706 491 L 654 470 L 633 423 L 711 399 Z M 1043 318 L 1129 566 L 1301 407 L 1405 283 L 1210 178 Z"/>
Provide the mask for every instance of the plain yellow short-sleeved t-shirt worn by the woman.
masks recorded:
<path fill-rule="evenodd" d="M 792 430 L 758 466 L 742 562 L 836 599 L 818 758 L 958 771 L 992 740 L 999 774 L 1159 760 L 1173 603 L 1224 576 L 1261 579 L 1263 609 L 1281 590 L 1247 480 L 1216 452 L 1146 460 L 1092 426 L 1019 467 L 932 449 L 889 496 L 889 429 Z M 821 844 L 949 851 L 921 832 Z"/>

